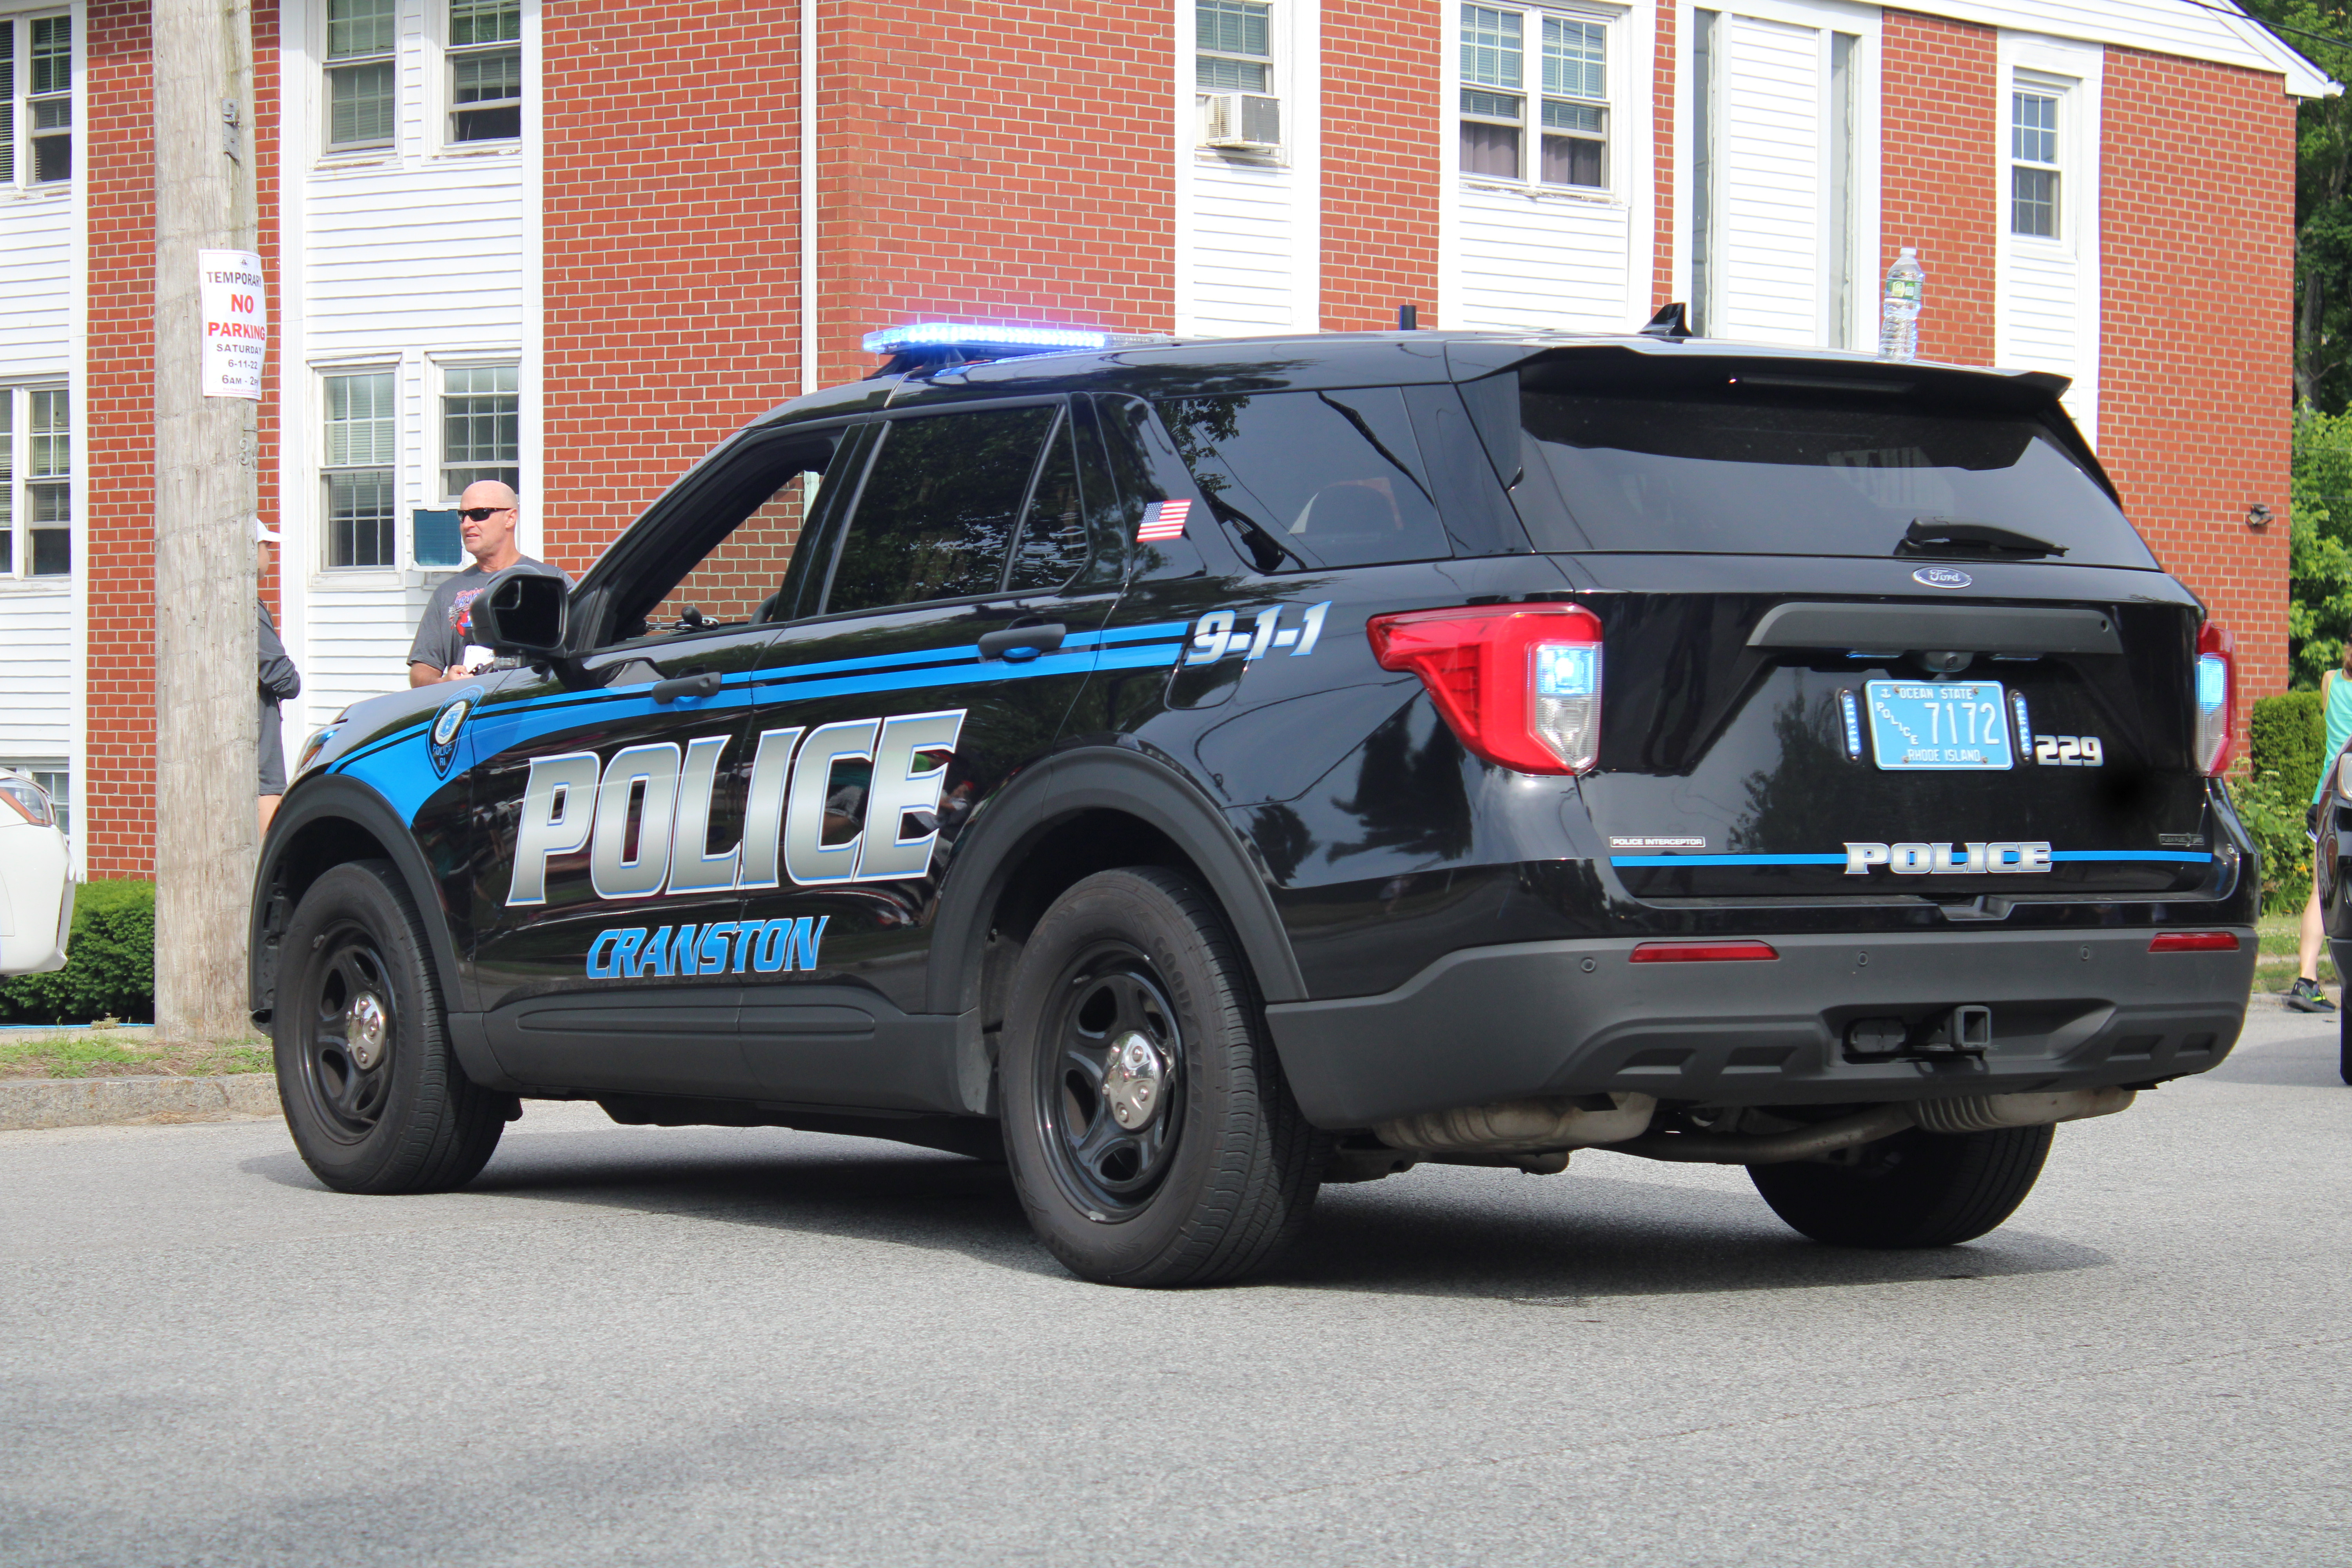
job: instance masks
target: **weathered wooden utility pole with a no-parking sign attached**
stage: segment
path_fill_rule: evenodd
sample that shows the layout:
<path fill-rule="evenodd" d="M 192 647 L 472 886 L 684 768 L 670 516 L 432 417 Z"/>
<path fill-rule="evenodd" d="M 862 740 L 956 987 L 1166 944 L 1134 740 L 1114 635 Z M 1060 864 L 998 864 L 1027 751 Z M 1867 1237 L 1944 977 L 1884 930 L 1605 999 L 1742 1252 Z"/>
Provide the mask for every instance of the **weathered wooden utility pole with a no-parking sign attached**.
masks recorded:
<path fill-rule="evenodd" d="M 198 252 L 256 247 L 249 0 L 155 9 L 155 1023 L 252 1032 L 256 411 L 207 397 Z"/>

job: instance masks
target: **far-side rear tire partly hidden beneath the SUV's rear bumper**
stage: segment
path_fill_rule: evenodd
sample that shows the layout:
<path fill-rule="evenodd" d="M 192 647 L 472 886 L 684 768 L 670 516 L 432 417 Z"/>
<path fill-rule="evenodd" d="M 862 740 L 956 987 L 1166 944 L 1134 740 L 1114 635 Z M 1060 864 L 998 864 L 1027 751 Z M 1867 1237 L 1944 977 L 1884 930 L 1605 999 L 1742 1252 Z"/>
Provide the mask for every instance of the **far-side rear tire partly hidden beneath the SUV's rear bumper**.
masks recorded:
<path fill-rule="evenodd" d="M 1748 1166 L 1771 1211 L 1832 1246 L 1955 1246 L 2018 1211 L 2042 1175 L 2051 1128 L 1907 1131 L 1867 1143 L 1851 1166 L 1797 1159 Z"/>

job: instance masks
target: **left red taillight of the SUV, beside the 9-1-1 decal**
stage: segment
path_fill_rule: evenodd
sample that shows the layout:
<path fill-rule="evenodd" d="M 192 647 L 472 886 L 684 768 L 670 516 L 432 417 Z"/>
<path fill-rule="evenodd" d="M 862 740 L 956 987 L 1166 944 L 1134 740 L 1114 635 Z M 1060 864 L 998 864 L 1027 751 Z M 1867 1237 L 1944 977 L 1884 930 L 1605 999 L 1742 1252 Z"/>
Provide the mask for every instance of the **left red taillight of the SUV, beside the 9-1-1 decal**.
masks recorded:
<path fill-rule="evenodd" d="M 1602 745 L 1602 623 L 1583 604 L 1374 616 L 1383 670 L 1411 670 L 1461 743 L 1519 773 L 1583 773 Z"/>

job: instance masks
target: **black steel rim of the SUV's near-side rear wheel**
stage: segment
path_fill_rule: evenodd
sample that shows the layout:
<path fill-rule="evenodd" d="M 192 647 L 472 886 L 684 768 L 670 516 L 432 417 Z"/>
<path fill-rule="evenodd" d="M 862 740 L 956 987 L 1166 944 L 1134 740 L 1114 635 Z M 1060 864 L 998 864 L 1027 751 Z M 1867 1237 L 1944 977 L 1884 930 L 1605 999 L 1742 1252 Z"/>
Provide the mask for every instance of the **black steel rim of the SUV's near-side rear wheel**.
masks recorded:
<path fill-rule="evenodd" d="M 1115 1063 L 1148 1051 L 1141 1074 L 1127 1072 L 1105 1093 Z M 1037 1041 L 1033 1107 L 1054 1180 L 1089 1220 L 1141 1213 L 1167 1180 L 1183 1140 L 1185 1039 L 1176 1006 L 1152 961 L 1127 943 L 1103 943 L 1073 961 L 1054 987 Z M 1145 1119 L 1122 1126 L 1120 1095 L 1134 1112 L 1138 1081 L 1150 1084 Z"/>

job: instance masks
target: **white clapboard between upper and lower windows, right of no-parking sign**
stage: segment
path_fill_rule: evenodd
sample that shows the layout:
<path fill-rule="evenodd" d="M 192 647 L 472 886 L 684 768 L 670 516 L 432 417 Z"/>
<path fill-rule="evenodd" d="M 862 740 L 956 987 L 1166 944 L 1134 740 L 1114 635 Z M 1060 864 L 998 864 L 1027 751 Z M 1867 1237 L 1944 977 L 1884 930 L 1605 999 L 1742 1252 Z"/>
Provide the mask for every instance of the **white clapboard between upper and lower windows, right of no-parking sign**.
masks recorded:
<path fill-rule="evenodd" d="M 313 362 L 522 341 L 517 160 L 320 172 L 303 214 L 303 353 Z"/>

